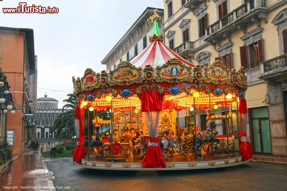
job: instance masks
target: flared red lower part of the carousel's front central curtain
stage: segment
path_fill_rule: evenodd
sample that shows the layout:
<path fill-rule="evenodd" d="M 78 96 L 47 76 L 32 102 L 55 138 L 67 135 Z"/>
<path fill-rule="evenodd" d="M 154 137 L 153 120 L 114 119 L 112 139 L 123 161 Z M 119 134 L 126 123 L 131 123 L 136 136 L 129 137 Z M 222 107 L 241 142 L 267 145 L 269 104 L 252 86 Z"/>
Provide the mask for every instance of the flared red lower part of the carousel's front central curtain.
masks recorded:
<path fill-rule="evenodd" d="M 144 157 L 141 165 L 146 168 L 166 168 L 166 164 L 158 144 L 158 137 L 149 137 L 148 140 L 149 143 L 154 143 L 152 145 L 155 146 L 148 146 L 146 156 Z"/>

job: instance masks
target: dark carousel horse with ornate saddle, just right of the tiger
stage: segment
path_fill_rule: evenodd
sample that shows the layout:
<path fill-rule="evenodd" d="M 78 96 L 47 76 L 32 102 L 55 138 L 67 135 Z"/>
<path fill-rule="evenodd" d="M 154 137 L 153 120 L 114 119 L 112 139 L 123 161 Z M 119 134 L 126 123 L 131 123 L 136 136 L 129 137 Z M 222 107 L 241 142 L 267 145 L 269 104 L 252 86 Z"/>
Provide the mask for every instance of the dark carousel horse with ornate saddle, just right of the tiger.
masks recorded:
<path fill-rule="evenodd" d="M 199 157 L 202 157 L 202 153 L 201 150 L 199 149 L 199 147 L 202 145 L 203 142 L 209 142 L 210 146 L 217 143 L 216 146 L 214 147 L 214 149 L 218 148 L 218 144 L 220 143 L 219 139 L 215 138 L 215 132 L 216 131 L 216 125 L 215 122 L 213 120 L 209 120 L 206 123 L 206 130 L 204 131 L 198 131 L 196 133 L 196 136 L 193 136 L 193 146 L 192 148 L 195 149 L 195 139 L 197 139 L 197 153 Z"/>

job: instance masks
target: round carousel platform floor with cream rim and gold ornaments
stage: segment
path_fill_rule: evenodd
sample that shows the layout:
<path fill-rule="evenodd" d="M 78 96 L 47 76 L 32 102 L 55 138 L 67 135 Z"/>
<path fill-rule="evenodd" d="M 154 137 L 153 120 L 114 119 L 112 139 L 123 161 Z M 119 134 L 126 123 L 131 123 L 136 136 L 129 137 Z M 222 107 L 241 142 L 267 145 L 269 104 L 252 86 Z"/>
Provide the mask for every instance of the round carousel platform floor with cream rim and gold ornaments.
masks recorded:
<path fill-rule="evenodd" d="M 206 153 L 198 161 L 195 160 L 193 155 L 167 157 L 167 168 L 145 168 L 141 166 L 143 159 L 137 158 L 136 156 L 123 161 L 110 162 L 103 155 L 97 158 L 94 155 L 90 155 L 90 160 L 88 160 L 88 156 L 85 156 L 82 162 L 76 162 L 76 164 L 84 168 L 105 170 L 185 170 L 236 166 L 249 161 L 244 160 L 239 153 L 231 153 L 229 157 L 228 155 L 211 155 Z"/>

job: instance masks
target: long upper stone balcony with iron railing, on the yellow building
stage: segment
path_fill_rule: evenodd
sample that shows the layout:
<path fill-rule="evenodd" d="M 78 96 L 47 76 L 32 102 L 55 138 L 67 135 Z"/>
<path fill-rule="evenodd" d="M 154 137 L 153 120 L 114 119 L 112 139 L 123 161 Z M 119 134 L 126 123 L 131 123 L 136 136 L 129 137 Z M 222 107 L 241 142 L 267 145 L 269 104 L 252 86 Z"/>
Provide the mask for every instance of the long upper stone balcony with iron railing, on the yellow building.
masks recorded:
<path fill-rule="evenodd" d="M 246 24 L 253 22 L 260 26 L 260 19 L 267 23 L 267 9 L 265 0 L 249 0 L 237 9 L 231 11 L 228 15 L 219 19 L 212 25 L 205 28 L 207 37 L 206 42 L 214 46 L 220 44 L 220 41 L 228 38 L 230 33 L 238 29 L 246 33 Z"/>

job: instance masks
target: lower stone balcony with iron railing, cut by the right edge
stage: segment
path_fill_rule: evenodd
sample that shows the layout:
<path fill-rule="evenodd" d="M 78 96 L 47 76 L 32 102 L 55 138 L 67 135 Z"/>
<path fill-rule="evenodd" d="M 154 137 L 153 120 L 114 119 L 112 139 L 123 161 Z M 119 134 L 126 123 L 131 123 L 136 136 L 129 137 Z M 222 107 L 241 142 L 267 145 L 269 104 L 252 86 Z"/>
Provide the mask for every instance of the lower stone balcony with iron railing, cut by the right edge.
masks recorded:
<path fill-rule="evenodd" d="M 287 54 L 262 62 L 260 68 L 263 74 L 259 78 L 265 80 L 268 85 L 274 86 L 276 80 L 286 78 Z"/>

